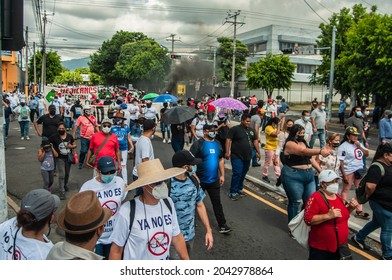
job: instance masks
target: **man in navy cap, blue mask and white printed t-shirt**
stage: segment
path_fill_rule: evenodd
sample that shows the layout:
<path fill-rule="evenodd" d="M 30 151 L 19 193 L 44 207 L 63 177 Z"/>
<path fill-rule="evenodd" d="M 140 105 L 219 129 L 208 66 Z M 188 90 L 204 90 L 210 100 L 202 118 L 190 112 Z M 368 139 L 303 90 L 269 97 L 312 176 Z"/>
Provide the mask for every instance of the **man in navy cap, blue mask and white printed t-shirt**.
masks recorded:
<path fill-rule="evenodd" d="M 95 246 L 95 252 L 105 259 L 109 258 L 111 246 L 109 239 L 118 210 L 127 196 L 127 192 L 124 189 L 125 182 L 121 177 L 117 176 L 113 158 L 107 156 L 103 156 L 98 160 L 97 176 L 85 182 L 80 188 L 80 192 L 94 191 L 102 207 L 109 208 L 112 211 L 110 219 L 105 223 L 103 234 Z"/>

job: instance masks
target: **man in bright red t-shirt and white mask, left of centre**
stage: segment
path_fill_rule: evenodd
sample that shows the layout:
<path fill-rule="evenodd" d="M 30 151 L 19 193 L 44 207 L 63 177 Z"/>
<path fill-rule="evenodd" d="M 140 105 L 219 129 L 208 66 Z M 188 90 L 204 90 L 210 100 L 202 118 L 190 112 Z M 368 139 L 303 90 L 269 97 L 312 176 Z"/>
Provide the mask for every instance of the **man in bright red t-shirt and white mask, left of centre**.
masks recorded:
<path fill-rule="evenodd" d="M 118 143 L 117 136 L 110 132 L 112 127 L 112 121 L 108 118 L 104 118 L 101 123 L 101 131 L 93 134 L 90 140 L 90 147 L 87 152 L 86 165 L 90 168 L 96 168 L 98 161 L 103 156 L 108 156 L 113 159 L 117 166 L 117 172 L 121 173 L 121 152 L 120 145 Z M 106 138 L 108 139 L 106 140 Z M 105 142 L 106 140 L 106 142 Z M 101 147 L 102 145 L 102 147 Z M 99 150 L 99 151 L 98 151 Z M 94 166 L 89 164 L 90 157 L 97 153 L 96 161 Z M 94 173 L 95 174 L 95 173 Z"/>

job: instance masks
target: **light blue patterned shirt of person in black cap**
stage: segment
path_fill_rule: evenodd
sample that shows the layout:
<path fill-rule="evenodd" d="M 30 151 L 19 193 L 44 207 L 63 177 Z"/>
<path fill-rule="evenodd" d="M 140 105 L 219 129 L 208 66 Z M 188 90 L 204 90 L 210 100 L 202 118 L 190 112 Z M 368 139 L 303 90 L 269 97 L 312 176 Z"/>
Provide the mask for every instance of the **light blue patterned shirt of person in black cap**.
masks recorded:
<path fill-rule="evenodd" d="M 195 208 L 206 197 L 203 189 L 193 184 L 187 177 L 185 181 L 171 178 L 170 198 L 177 212 L 177 220 L 185 241 L 195 237 Z"/>

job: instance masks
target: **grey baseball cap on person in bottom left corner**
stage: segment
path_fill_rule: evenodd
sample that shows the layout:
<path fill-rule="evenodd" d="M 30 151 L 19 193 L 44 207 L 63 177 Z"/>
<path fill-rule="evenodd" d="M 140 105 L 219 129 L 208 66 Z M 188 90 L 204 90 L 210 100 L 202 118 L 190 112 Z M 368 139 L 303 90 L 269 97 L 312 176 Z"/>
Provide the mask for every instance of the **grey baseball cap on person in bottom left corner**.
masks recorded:
<path fill-rule="evenodd" d="M 57 195 L 44 189 L 28 192 L 22 199 L 20 210 L 30 212 L 37 222 L 48 217 L 60 204 Z"/>

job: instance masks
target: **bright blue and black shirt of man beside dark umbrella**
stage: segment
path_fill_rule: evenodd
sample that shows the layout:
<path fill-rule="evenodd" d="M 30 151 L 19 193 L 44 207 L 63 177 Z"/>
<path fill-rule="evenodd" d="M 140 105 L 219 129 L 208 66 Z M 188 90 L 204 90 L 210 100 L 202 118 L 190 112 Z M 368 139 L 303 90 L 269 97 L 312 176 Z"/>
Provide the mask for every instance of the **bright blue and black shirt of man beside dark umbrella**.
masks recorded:
<path fill-rule="evenodd" d="M 191 153 L 203 161 L 197 166 L 197 176 L 200 182 L 211 184 L 219 180 L 219 160 L 223 157 L 221 144 L 214 141 L 205 141 L 203 138 L 192 144 Z"/>

